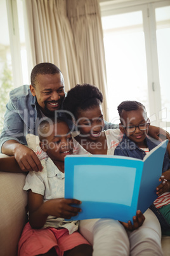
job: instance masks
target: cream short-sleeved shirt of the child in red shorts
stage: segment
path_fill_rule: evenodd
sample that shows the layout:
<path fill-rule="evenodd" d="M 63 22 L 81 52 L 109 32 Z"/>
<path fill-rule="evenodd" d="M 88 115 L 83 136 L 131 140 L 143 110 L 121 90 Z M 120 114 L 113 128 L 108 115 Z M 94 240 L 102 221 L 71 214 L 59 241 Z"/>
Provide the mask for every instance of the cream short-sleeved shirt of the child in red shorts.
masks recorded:
<path fill-rule="evenodd" d="M 42 151 L 39 146 L 37 146 L 36 154 L 41 160 L 41 164 L 44 168 L 42 171 L 30 171 L 29 174 L 27 174 L 23 190 L 31 189 L 32 192 L 42 195 L 44 197 L 44 202 L 50 199 L 64 198 L 65 174 L 55 166 L 46 152 Z M 68 229 L 69 234 L 72 234 L 77 231 L 78 224 L 79 222 L 77 221 L 65 221 L 64 218 L 48 216 L 46 224 L 42 228 L 64 227 Z"/>

